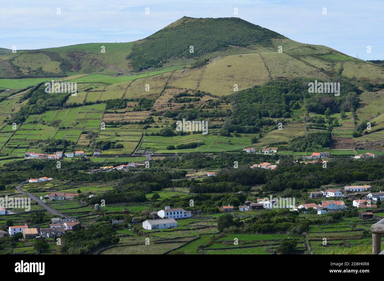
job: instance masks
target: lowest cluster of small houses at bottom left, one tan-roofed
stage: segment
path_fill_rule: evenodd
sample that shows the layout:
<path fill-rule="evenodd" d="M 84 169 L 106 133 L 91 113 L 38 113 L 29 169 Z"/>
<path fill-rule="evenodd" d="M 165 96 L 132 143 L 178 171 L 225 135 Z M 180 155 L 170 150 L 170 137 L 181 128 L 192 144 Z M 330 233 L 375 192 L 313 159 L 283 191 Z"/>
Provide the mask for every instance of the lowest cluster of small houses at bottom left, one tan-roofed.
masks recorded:
<path fill-rule="evenodd" d="M 8 228 L 8 235 L 13 236 L 16 233 L 23 233 L 24 239 L 56 238 L 64 234 L 68 230 L 72 230 L 73 226 L 79 222 L 72 218 L 52 218 L 52 223 L 48 228 L 29 228 L 28 225 L 16 225 Z"/>

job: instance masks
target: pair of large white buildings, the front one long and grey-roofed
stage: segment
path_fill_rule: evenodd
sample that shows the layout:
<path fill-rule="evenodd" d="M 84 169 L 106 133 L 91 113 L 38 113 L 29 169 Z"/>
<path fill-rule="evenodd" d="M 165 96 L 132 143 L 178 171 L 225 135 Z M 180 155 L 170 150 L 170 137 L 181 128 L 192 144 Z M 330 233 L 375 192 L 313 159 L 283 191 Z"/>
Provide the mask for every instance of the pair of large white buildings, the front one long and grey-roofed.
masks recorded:
<path fill-rule="evenodd" d="M 177 219 L 190 218 L 192 213 L 185 211 L 183 208 L 170 208 L 170 206 L 166 206 L 165 209 L 158 212 L 150 212 L 149 216 L 153 220 L 143 221 L 142 227 L 144 229 L 167 229 L 177 226 Z"/>

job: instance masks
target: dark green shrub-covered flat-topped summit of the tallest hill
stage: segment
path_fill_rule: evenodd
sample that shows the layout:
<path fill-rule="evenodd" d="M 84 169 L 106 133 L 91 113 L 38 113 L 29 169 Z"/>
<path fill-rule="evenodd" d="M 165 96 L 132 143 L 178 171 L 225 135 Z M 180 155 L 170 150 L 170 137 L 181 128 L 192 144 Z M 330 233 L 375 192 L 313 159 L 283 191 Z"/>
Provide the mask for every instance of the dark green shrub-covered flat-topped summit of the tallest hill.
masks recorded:
<path fill-rule="evenodd" d="M 128 58 L 141 70 L 162 66 L 170 58 L 195 58 L 230 46 L 272 48 L 272 38 L 286 37 L 240 18 L 182 17 L 138 41 Z"/>

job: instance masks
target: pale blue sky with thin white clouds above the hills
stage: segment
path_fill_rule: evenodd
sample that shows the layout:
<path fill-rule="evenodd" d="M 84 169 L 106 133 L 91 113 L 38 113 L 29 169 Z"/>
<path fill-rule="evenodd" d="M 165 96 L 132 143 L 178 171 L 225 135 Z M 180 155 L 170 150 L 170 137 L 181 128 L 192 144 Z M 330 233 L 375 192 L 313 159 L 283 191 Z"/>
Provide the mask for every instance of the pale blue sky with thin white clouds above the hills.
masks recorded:
<path fill-rule="evenodd" d="M 363 60 L 384 60 L 384 0 L 46 2 L 13 0 L 2 5 L 0 47 L 32 50 L 130 42 L 184 16 L 239 17 L 301 43 L 325 45 Z"/>

